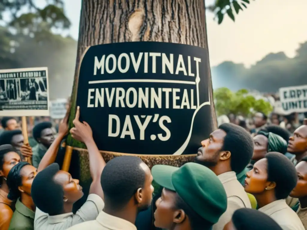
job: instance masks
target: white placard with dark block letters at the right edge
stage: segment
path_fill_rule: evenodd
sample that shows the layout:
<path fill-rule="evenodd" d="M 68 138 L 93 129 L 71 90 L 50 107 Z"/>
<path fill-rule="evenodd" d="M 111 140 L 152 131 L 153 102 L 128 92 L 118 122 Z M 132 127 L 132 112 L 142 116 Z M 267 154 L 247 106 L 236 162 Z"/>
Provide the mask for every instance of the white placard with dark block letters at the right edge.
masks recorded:
<path fill-rule="evenodd" d="M 284 114 L 307 112 L 307 85 L 280 88 L 279 97 Z"/>

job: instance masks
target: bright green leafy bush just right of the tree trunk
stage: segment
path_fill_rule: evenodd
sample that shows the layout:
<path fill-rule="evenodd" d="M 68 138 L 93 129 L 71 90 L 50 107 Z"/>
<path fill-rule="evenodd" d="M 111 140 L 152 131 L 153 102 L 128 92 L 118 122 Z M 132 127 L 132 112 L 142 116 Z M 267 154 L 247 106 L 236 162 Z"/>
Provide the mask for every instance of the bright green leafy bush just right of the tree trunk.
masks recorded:
<path fill-rule="evenodd" d="M 268 114 L 273 110 L 270 102 L 255 99 L 246 89 L 232 92 L 230 89 L 222 87 L 214 90 L 213 98 L 218 116 L 233 113 L 247 117 L 254 112 Z"/>

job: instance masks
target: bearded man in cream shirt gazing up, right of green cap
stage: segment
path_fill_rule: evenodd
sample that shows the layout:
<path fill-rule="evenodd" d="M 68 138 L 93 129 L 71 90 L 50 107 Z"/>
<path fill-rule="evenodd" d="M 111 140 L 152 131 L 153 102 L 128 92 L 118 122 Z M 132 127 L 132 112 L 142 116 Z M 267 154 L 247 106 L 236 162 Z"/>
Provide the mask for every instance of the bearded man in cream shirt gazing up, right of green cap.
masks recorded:
<path fill-rule="evenodd" d="M 210 168 L 222 182 L 227 194 L 227 210 L 213 225 L 213 230 L 220 230 L 231 220 L 235 210 L 251 208 L 251 202 L 236 174 L 242 172 L 251 161 L 254 143 L 244 128 L 225 123 L 201 144 L 196 163 Z"/>

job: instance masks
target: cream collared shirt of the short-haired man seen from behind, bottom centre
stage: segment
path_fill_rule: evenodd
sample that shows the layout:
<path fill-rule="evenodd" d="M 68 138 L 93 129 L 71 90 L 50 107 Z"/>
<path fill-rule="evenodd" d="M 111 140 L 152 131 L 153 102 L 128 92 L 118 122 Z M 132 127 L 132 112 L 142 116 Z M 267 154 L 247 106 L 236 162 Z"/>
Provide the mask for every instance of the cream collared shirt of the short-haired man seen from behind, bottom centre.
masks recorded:
<path fill-rule="evenodd" d="M 95 229 L 95 230 L 137 230 L 134 224 L 131 222 L 121 219 L 119 217 L 111 216 L 101 211 L 96 220 L 88 221 L 86 223 L 77 224 L 68 230 L 84 230 L 84 229 Z"/>

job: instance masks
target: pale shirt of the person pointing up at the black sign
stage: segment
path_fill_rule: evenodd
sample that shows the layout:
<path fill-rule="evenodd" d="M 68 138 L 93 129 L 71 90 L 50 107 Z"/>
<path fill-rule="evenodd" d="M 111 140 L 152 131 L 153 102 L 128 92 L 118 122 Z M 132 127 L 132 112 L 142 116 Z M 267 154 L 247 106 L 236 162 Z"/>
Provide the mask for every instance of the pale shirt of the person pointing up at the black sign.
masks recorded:
<path fill-rule="evenodd" d="M 48 199 L 48 197 L 46 197 Z M 65 230 L 75 224 L 95 220 L 102 211 L 104 202 L 96 194 L 89 194 L 84 205 L 76 212 L 49 216 L 38 208 L 35 211 L 34 230 Z"/>

